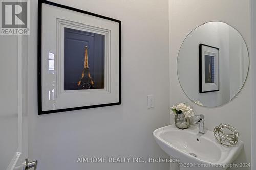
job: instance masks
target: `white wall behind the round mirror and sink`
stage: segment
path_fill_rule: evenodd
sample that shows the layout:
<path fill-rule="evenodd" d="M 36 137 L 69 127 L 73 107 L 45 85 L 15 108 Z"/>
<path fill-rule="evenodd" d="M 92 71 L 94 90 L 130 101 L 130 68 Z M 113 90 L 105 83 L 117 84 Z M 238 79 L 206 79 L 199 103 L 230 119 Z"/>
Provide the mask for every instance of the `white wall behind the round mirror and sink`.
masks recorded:
<path fill-rule="evenodd" d="M 240 132 L 244 150 L 237 163 L 251 162 L 251 72 L 243 90 L 226 105 L 204 108 L 191 102 L 182 91 L 176 61 L 182 41 L 197 26 L 208 21 L 223 21 L 236 28 L 251 48 L 250 1 L 239 0 L 169 0 L 170 25 L 170 104 L 186 102 L 196 114 L 205 115 L 205 127 L 212 130 L 220 123 L 231 124 Z M 171 123 L 173 116 L 170 117 Z M 250 169 L 250 168 L 241 168 Z"/>

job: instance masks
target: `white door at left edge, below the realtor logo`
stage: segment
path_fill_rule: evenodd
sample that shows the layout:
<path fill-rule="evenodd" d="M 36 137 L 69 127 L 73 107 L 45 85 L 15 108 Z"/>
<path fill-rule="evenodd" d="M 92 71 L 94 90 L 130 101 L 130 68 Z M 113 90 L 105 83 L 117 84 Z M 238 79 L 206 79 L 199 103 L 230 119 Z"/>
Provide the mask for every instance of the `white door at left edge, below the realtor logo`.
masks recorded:
<path fill-rule="evenodd" d="M 0 39 L 0 168 L 7 169 L 18 149 L 18 37 L 1 36 Z M 7 72 L 8 70 L 8 72 Z M 8 82 L 8 83 L 3 83 Z M 7 128 L 8 127 L 8 128 Z"/>

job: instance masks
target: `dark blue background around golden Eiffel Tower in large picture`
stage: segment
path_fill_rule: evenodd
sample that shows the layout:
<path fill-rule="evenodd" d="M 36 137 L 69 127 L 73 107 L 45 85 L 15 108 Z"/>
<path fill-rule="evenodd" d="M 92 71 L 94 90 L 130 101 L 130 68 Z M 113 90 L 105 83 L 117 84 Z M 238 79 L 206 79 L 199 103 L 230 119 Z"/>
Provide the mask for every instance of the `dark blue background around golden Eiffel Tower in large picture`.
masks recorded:
<path fill-rule="evenodd" d="M 64 90 L 78 90 L 82 76 L 85 46 L 88 46 L 89 70 L 94 89 L 104 88 L 104 35 L 64 29 Z"/>

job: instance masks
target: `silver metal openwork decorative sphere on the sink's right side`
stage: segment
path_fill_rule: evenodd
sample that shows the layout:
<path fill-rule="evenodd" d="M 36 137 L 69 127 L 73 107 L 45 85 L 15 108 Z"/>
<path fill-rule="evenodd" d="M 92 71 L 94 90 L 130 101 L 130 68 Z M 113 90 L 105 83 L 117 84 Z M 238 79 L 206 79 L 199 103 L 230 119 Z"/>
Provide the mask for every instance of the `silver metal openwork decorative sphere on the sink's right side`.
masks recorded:
<path fill-rule="evenodd" d="M 214 136 L 220 144 L 232 147 L 238 143 L 238 135 L 234 127 L 227 124 L 220 124 L 214 128 Z"/>

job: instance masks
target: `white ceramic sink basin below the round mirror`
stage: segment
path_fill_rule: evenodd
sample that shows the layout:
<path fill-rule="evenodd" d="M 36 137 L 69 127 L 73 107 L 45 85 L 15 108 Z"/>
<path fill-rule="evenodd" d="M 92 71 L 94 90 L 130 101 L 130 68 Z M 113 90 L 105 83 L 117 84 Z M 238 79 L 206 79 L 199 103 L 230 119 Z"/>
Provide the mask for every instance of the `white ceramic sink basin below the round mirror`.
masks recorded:
<path fill-rule="evenodd" d="M 190 164 L 189 169 L 199 169 L 200 166 L 204 166 L 203 169 L 226 169 L 223 167 L 231 164 L 243 148 L 242 141 L 234 147 L 225 147 L 217 142 L 212 131 L 206 130 L 205 134 L 198 131 L 194 125 L 184 130 L 169 125 L 156 129 L 153 135 L 162 150 L 184 165 Z"/>

